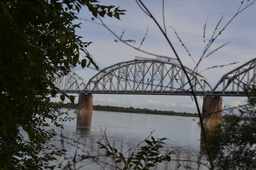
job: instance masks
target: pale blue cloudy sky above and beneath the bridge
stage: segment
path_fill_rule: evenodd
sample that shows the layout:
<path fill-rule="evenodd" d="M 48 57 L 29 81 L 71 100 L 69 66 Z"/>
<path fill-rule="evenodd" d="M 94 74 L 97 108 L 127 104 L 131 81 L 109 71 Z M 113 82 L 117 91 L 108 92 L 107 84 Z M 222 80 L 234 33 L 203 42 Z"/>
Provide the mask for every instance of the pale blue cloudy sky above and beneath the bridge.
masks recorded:
<path fill-rule="evenodd" d="M 162 17 L 162 1 L 148 0 L 143 1 L 152 14 L 163 26 Z M 173 27 L 179 34 L 183 43 L 188 48 L 189 52 L 195 60 L 200 58 L 204 50 L 204 25 L 207 20 L 205 29 L 206 40 L 211 38 L 212 31 L 216 24 L 223 16 L 220 26 L 227 24 L 228 20 L 234 16 L 237 8 L 241 4 L 238 0 L 179 0 L 168 1 L 165 0 L 164 18 L 167 29 L 167 34 L 177 50 L 182 62 L 189 68 L 195 67 L 193 60 L 188 56 L 188 53 L 179 39 L 176 38 Z M 123 39 L 132 39 L 136 43 L 131 43 L 134 46 L 140 46 L 141 39 L 145 35 L 148 28 L 148 35 L 141 46 L 141 50 L 157 55 L 164 55 L 168 57 L 175 57 L 163 34 L 156 27 L 156 24 L 139 8 L 134 0 L 104 0 L 101 4 L 113 4 L 120 6 L 120 9 L 127 10 L 125 15 L 121 16 L 121 20 L 116 18 L 105 17 L 102 18 L 104 23 L 113 30 L 118 36 L 124 32 Z M 234 20 L 228 25 L 227 29 L 221 33 L 221 36 L 216 39 L 212 48 L 228 43 L 225 47 L 213 53 L 202 61 L 199 66 L 199 72 L 207 67 L 228 64 L 230 62 L 237 62 L 237 64 L 221 67 L 217 69 L 209 69 L 203 71 L 202 74 L 214 86 L 221 76 L 244 62 L 256 57 L 256 5 L 250 6 L 242 13 L 236 16 Z M 93 17 L 86 8 L 83 8 L 79 13 L 80 18 L 91 20 Z M 97 18 L 93 20 L 99 22 Z M 135 56 L 147 57 L 154 59 L 146 53 L 139 52 L 133 48 L 124 45 L 118 41 L 115 42 L 115 36 L 111 34 L 105 27 L 92 22 L 77 20 L 81 22 L 81 29 L 77 29 L 77 34 L 83 36 L 84 41 L 92 41 L 92 45 L 88 46 L 88 52 L 91 53 L 93 59 L 99 65 L 100 69 L 111 66 L 117 62 L 125 60 L 132 60 Z M 82 59 L 82 58 L 81 58 Z M 97 71 L 77 67 L 75 71 L 84 81 L 88 81 Z M 243 104 L 245 97 L 224 97 L 223 106 L 237 106 Z M 198 97 L 202 105 L 202 97 Z M 77 99 L 76 99 L 77 101 Z M 195 113 L 195 103 L 189 96 L 139 96 L 139 95 L 93 95 L 93 104 L 124 106 L 134 108 L 149 108 L 157 110 L 173 110 L 179 112 Z"/>

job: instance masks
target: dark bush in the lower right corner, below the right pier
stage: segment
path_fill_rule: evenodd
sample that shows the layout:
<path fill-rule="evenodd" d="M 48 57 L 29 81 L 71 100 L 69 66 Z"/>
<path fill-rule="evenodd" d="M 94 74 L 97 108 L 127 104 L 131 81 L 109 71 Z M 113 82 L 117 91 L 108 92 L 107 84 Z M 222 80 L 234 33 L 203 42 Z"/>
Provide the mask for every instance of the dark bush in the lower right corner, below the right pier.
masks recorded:
<path fill-rule="evenodd" d="M 251 89 L 249 95 L 255 96 Z M 216 127 L 214 142 L 216 166 L 220 169 L 253 169 L 256 167 L 256 97 L 248 97 L 247 105 L 230 110 Z"/>

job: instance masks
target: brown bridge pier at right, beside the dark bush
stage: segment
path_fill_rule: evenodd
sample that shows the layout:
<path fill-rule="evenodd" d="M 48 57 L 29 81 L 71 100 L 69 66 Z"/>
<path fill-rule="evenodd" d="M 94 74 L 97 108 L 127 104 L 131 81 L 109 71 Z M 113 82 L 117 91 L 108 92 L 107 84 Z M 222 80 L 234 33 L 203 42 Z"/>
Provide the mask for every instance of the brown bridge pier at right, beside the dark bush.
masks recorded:
<path fill-rule="evenodd" d="M 202 117 L 204 127 L 211 132 L 214 127 L 221 124 L 222 97 L 204 97 Z"/>

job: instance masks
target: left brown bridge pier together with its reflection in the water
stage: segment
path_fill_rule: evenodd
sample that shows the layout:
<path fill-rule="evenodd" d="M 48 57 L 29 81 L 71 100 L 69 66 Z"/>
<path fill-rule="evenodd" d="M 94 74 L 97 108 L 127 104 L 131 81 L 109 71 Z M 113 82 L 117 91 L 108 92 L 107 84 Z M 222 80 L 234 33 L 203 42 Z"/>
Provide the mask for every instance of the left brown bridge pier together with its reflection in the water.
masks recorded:
<path fill-rule="evenodd" d="M 92 124 L 93 96 L 91 94 L 79 94 L 77 108 L 77 132 L 87 134 Z"/>

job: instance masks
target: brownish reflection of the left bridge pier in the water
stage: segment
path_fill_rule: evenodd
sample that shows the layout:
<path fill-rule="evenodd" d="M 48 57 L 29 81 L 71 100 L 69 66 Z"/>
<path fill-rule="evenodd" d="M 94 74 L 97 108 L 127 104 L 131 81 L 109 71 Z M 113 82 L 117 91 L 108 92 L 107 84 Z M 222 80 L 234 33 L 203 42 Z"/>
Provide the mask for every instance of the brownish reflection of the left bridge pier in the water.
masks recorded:
<path fill-rule="evenodd" d="M 92 126 L 92 112 L 80 110 L 77 111 L 76 132 L 78 135 L 87 136 L 90 134 Z"/>

